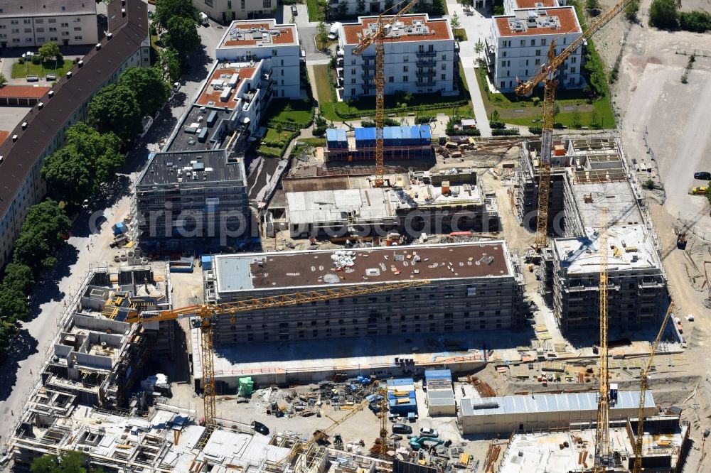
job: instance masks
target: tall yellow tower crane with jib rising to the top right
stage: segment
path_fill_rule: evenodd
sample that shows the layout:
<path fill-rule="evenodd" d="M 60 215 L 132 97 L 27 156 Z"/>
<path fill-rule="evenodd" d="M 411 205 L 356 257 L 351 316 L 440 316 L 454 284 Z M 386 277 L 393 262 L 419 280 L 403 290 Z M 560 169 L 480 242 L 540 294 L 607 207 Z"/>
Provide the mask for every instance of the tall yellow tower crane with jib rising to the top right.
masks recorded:
<path fill-rule="evenodd" d="M 528 96 L 533 92 L 534 87 L 543 82 L 543 119 L 541 133 L 539 182 L 538 182 L 538 217 L 536 219 L 536 234 L 533 248 L 536 251 L 547 245 L 548 241 L 548 202 L 550 198 L 550 153 L 553 142 L 553 125 L 555 124 L 555 87 L 558 84 L 556 72 L 558 67 L 589 40 L 600 28 L 605 26 L 612 18 L 617 16 L 629 4 L 631 0 L 621 0 L 611 9 L 598 16 L 592 26 L 575 39 L 570 45 L 562 50 L 559 55 L 555 55 L 555 40 L 550 42 L 548 49 L 548 61 L 541 66 L 540 71 L 530 77 L 527 81 L 521 82 L 515 92 L 519 96 Z M 561 34 L 569 33 L 561 31 Z"/>

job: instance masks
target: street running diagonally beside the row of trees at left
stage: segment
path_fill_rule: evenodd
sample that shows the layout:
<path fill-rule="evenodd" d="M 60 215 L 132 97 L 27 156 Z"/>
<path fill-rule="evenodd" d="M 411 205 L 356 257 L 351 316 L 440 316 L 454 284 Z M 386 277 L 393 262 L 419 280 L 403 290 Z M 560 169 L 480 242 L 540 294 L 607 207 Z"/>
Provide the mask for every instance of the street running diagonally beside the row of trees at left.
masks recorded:
<path fill-rule="evenodd" d="M 191 58 L 190 72 L 181 77 L 181 90 L 161 112 L 148 134 L 128 153 L 124 169 L 112 183 L 105 185 L 102 195 L 92 199 L 90 212 L 98 213 L 91 220 L 97 222 L 99 228 L 90 228 L 90 212 L 82 214 L 73 226 L 73 236 L 58 252 L 58 265 L 46 274 L 32 294 L 31 320 L 21 323 L 9 359 L 0 365 L 0 455 L 28 393 L 38 382 L 38 373 L 46 352 L 53 346 L 65 304 L 80 288 L 90 266 L 113 263 L 113 250 L 108 246 L 112 239 L 111 225 L 129 213 L 130 190 L 146 165 L 149 151 L 156 151 L 161 140 L 170 135 L 215 62 L 215 46 L 225 30 L 211 23 L 198 31 L 205 48 Z"/>

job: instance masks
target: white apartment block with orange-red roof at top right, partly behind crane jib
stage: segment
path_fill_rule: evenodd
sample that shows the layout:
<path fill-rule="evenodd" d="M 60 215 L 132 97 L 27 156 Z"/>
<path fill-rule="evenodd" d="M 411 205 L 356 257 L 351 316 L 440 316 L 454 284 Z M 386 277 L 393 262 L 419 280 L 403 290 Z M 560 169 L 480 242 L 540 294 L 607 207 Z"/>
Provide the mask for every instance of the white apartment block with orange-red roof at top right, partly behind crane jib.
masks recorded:
<path fill-rule="evenodd" d="M 494 16 L 491 38 L 486 40 L 486 63 L 493 85 L 501 92 L 511 92 L 519 80 L 527 80 L 546 62 L 551 41 L 555 53 L 582 35 L 572 6 L 516 9 L 513 14 Z M 558 68 L 558 86 L 584 87 L 582 47 Z"/>

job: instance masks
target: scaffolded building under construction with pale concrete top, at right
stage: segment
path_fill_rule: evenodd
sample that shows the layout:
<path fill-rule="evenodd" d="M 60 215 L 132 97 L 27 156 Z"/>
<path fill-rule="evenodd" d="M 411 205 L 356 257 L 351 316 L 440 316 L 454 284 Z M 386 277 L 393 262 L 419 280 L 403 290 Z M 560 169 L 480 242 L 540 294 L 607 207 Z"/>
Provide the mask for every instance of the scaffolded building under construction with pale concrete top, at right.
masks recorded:
<path fill-rule="evenodd" d="M 535 227 L 540 141 L 524 141 L 517 170 L 517 212 Z M 607 208 L 609 323 L 621 331 L 665 312 L 660 245 L 619 136 L 555 140 L 551 156 L 550 234 L 542 251 L 541 290 L 564 330 L 599 323 L 600 214 Z"/>

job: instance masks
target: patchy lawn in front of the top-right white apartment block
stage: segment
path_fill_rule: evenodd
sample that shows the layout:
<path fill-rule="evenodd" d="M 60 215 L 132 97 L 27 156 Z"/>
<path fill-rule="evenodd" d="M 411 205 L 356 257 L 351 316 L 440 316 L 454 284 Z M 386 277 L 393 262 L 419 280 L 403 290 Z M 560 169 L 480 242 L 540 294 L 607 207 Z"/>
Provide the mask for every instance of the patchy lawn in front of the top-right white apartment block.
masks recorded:
<path fill-rule="evenodd" d="M 513 92 L 491 94 L 488 92 L 484 71 L 486 69 L 482 67 L 476 70 L 476 80 L 479 81 L 480 89 L 484 91 L 481 98 L 487 114 L 491 114 L 496 109 L 501 120 L 508 124 L 540 126 L 540 116 L 543 113 L 542 87 L 536 88 L 530 97 L 518 97 Z M 578 112 L 581 126 L 592 126 L 595 118 L 602 128 L 614 129 L 614 115 L 608 97 L 600 97 L 590 104 L 587 102 L 587 94 L 582 90 L 559 89 L 556 95 L 556 102 L 560 109 L 560 113 L 555 116 L 557 124 L 572 126 L 574 112 Z"/>

